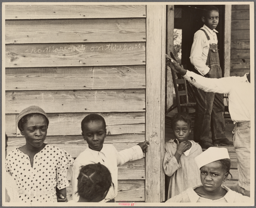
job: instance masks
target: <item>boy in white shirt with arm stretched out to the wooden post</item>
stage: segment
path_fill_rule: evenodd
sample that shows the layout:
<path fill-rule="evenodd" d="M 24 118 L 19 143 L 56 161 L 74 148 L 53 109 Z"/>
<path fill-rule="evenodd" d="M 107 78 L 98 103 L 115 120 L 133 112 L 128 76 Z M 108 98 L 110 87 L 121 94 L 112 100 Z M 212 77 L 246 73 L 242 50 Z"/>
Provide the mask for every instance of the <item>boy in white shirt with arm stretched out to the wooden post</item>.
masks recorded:
<path fill-rule="evenodd" d="M 80 167 L 100 163 L 108 168 L 112 177 L 112 185 L 107 196 L 101 202 L 115 202 L 115 197 L 117 196 L 117 166 L 143 158 L 143 151 L 147 151 L 149 142 L 145 140 L 120 152 L 112 144 L 104 145 L 106 123 L 104 118 L 98 114 L 87 115 L 82 120 L 81 128 L 82 135 L 89 147 L 79 154 L 72 167 L 72 200 L 78 201 L 79 199 L 76 192 Z"/>

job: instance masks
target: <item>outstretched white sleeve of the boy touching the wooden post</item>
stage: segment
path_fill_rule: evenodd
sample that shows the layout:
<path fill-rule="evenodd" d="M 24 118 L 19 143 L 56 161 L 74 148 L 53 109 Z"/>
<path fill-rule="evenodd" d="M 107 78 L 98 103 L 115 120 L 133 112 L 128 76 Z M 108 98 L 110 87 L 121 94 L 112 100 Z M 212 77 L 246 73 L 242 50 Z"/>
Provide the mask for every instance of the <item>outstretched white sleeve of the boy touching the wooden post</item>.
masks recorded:
<path fill-rule="evenodd" d="M 117 165 L 123 165 L 128 161 L 138 160 L 143 158 L 143 152 L 139 145 L 135 145 L 129 149 L 124 149 L 120 152 L 116 150 Z"/>

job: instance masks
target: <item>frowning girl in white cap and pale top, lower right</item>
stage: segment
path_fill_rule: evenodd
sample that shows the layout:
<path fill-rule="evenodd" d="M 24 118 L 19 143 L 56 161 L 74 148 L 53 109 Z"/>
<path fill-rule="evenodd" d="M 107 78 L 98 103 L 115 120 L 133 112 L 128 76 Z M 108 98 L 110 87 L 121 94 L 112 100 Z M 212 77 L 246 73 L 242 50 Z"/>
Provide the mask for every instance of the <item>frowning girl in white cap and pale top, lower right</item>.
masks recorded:
<path fill-rule="evenodd" d="M 200 169 L 202 185 L 190 187 L 166 202 L 249 202 L 249 197 L 222 185 L 228 177 L 231 164 L 226 148 L 210 147 L 198 155 L 195 162 Z"/>

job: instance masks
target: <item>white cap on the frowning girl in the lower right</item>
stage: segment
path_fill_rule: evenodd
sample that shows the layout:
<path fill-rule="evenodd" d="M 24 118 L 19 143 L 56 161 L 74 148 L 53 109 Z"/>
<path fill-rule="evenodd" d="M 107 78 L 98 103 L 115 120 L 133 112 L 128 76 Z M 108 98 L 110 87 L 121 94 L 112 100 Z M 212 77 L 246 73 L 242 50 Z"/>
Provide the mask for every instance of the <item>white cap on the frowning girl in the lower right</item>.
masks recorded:
<path fill-rule="evenodd" d="M 195 157 L 195 162 L 200 169 L 204 165 L 226 158 L 230 159 L 227 148 L 209 147 L 204 152 Z"/>

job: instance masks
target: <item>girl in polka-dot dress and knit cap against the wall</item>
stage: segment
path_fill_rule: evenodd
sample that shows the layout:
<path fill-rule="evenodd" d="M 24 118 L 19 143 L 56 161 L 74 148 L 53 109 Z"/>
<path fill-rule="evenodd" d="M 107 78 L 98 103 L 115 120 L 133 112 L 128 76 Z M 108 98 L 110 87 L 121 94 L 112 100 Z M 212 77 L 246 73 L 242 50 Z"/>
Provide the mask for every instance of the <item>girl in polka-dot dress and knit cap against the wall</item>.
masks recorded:
<path fill-rule="evenodd" d="M 73 158 L 63 149 L 45 144 L 49 119 L 38 106 L 17 117 L 26 144 L 7 154 L 5 167 L 15 179 L 20 202 L 65 202 L 67 169 Z"/>

